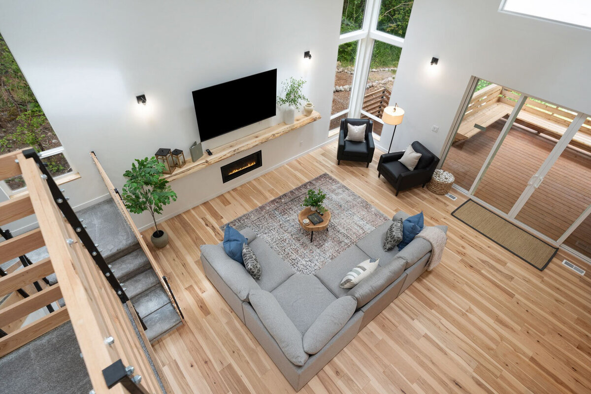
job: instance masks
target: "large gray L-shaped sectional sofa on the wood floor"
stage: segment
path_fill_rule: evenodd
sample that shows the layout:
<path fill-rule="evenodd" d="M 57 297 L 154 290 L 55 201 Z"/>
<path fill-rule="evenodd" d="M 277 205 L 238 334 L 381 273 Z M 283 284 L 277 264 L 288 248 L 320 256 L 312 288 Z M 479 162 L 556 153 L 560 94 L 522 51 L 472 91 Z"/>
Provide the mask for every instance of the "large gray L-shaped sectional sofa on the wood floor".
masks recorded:
<path fill-rule="evenodd" d="M 400 211 L 392 220 L 408 216 Z M 426 270 L 431 244 L 425 239 L 415 238 L 400 252 L 384 252 L 392 220 L 314 275 L 296 273 L 250 229 L 241 233 L 261 263 L 259 280 L 229 258 L 222 243 L 201 246 L 207 278 L 296 391 Z M 368 258 L 379 258 L 378 269 L 355 287 L 340 288 L 343 276 Z"/>

